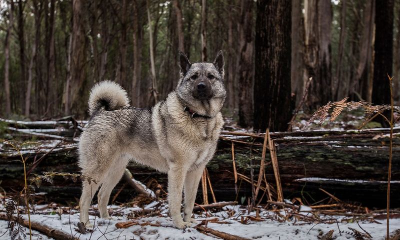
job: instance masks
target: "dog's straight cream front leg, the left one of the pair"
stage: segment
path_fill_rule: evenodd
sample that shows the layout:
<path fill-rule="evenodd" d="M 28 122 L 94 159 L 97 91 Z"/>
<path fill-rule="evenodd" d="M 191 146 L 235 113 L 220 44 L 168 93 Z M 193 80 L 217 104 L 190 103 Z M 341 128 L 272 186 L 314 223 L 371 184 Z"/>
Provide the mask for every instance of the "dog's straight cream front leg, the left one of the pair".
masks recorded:
<path fill-rule="evenodd" d="M 190 227 L 190 223 L 185 223 L 180 216 L 180 203 L 182 202 L 183 182 L 186 176 L 186 170 L 179 164 L 172 164 L 168 171 L 168 204 L 169 215 L 172 222 L 178 229 Z"/>

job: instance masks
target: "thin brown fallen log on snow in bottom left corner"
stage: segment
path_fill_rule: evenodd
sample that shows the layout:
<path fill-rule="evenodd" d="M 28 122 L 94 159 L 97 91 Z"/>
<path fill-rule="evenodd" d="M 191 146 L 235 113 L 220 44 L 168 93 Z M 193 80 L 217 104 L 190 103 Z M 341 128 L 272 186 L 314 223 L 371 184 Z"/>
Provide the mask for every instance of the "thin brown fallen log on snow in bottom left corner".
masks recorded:
<path fill-rule="evenodd" d="M 0 220 L 3 221 L 8 221 L 8 218 L 6 215 L 4 214 L 0 214 Z M 12 217 L 12 221 L 16 221 L 15 217 Z M 22 222 L 19 223 L 20 225 L 24 226 L 25 228 L 29 227 L 29 222 L 27 220 L 22 220 Z M 32 230 L 37 231 L 39 233 L 44 234 L 45 236 L 49 237 L 49 238 L 53 238 L 55 240 L 66 240 L 66 239 L 70 239 L 70 240 L 79 240 L 78 238 L 75 238 L 71 235 L 68 235 L 62 231 L 59 231 L 57 229 L 53 229 L 51 227 L 48 227 L 46 225 L 43 224 L 39 224 L 37 222 L 30 222 L 30 227 Z"/>

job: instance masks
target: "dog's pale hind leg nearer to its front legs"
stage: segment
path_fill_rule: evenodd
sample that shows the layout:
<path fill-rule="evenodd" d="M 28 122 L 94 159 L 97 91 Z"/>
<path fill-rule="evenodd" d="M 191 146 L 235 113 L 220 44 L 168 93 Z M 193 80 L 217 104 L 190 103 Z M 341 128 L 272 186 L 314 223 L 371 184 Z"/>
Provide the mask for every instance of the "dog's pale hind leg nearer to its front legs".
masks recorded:
<path fill-rule="evenodd" d="M 115 163 L 114 166 L 108 170 L 108 173 L 104 178 L 104 182 L 98 191 L 98 210 L 100 211 L 100 218 L 102 219 L 110 219 L 107 211 L 109 196 L 111 195 L 112 189 L 121 179 L 125 167 L 126 164 L 120 162 Z"/>

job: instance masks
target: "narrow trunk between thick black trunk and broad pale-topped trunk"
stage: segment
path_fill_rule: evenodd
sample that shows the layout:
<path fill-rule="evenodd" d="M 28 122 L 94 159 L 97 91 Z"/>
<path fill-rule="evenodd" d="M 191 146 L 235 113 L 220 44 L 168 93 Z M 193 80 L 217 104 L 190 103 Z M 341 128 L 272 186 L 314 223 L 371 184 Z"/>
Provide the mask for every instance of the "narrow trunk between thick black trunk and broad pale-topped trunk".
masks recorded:
<path fill-rule="evenodd" d="M 301 101 L 304 92 L 303 63 L 303 18 L 301 0 L 292 1 L 291 6 L 291 91 L 295 94 L 295 105 Z"/>

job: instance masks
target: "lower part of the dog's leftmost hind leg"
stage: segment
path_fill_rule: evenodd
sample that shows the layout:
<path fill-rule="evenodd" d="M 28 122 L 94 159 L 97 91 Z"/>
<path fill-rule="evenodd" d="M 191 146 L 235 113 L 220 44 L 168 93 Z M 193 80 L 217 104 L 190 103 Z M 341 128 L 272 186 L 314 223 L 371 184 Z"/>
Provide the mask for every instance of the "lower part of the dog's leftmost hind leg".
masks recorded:
<path fill-rule="evenodd" d="M 82 185 L 82 195 L 80 196 L 79 200 L 79 222 L 84 223 L 86 227 L 92 227 L 92 225 L 89 223 L 89 207 L 91 200 L 98 189 L 99 183 L 90 181 L 89 184 L 87 181 L 83 181 Z"/>

